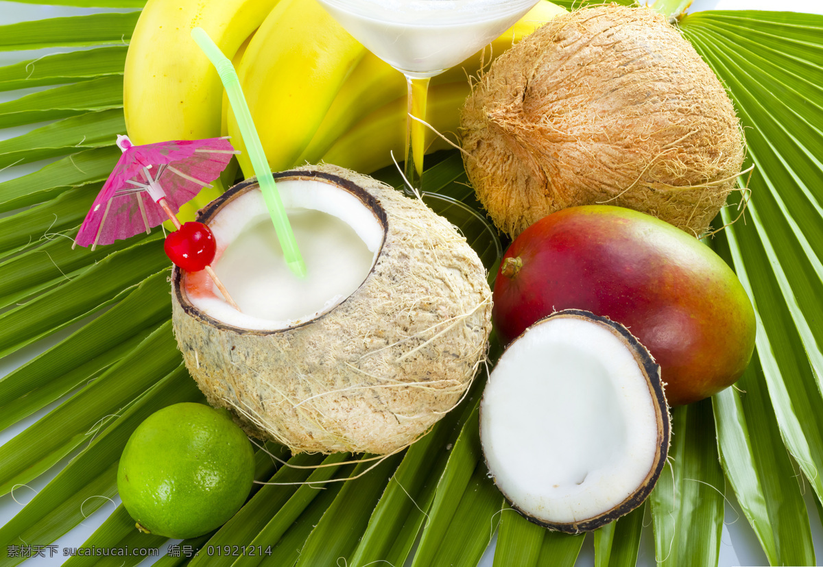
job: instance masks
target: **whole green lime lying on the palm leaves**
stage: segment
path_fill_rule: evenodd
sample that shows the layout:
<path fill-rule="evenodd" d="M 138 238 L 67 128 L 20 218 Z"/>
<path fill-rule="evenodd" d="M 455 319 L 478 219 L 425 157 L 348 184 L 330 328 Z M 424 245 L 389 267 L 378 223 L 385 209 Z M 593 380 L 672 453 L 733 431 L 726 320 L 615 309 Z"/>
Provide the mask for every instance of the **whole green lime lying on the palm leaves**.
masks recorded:
<path fill-rule="evenodd" d="M 226 523 L 245 502 L 253 477 L 251 443 L 228 411 L 178 403 L 134 430 L 117 488 L 139 529 L 182 539 Z"/>

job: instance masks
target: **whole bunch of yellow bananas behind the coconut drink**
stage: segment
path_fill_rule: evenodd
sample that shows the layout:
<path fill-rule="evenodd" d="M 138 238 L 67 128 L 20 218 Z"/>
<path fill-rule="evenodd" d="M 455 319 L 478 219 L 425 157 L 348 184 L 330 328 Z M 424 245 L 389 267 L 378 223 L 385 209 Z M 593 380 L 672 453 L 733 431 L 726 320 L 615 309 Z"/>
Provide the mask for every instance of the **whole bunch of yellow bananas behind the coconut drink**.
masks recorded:
<path fill-rule="evenodd" d="M 470 77 L 562 12 L 540 0 L 491 46 L 433 77 L 426 122 L 455 134 Z M 402 156 L 405 78 L 316 0 L 149 0 L 124 77 L 126 124 L 135 143 L 230 135 L 243 151 L 245 176 L 253 175 L 220 78 L 190 37 L 195 26 L 235 63 L 272 170 L 324 160 L 370 173 L 392 162 L 391 151 Z M 448 143 L 427 132 L 426 151 L 443 147 Z"/>

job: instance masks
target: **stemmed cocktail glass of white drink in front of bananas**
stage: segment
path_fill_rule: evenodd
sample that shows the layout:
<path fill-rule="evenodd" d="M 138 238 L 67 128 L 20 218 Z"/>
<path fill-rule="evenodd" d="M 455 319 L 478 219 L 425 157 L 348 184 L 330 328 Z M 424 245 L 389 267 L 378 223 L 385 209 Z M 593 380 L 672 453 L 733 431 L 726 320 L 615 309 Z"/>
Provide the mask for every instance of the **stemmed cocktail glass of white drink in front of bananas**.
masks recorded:
<path fill-rule="evenodd" d="M 412 116 L 425 119 L 425 102 L 431 77 L 462 62 L 502 34 L 528 12 L 537 0 L 319 0 L 320 4 L 354 38 L 406 76 L 407 193 L 421 188 L 425 130 Z M 429 201 L 441 199 L 463 207 L 482 221 L 497 243 L 495 231 L 476 211 L 436 193 L 423 193 Z"/>

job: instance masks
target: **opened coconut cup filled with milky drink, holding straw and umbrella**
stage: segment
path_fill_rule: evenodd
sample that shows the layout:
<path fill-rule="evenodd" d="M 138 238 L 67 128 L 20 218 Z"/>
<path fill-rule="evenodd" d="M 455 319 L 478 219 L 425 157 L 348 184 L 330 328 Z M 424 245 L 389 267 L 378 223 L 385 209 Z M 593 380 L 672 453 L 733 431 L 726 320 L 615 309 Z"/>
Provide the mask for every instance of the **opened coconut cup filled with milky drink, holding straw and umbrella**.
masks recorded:
<path fill-rule="evenodd" d="M 275 175 L 309 276 L 277 262 L 255 179 L 198 220 L 216 272 L 172 272 L 174 334 L 208 402 L 293 452 L 390 453 L 452 409 L 485 360 L 477 253 L 425 205 L 332 165 Z M 260 244 L 261 242 L 266 244 Z"/>

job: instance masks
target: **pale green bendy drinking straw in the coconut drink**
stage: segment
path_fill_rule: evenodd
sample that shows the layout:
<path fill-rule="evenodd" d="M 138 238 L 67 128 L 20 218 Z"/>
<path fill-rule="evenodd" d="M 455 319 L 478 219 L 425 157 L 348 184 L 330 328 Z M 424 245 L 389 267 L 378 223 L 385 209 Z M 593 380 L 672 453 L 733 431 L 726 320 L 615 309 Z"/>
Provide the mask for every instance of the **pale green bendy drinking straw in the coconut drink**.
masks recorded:
<path fill-rule="evenodd" d="M 229 58 L 221 52 L 220 48 L 212 41 L 205 30 L 196 27 L 192 30 L 192 38 L 197 42 L 206 57 L 212 62 L 212 65 L 220 75 L 223 86 L 226 87 L 226 94 L 229 95 L 229 103 L 231 109 L 235 111 L 235 119 L 240 128 L 240 133 L 243 135 L 243 140 L 246 142 L 246 150 L 249 151 L 249 160 L 252 162 L 254 174 L 257 175 L 260 190 L 263 192 L 263 199 L 266 201 L 268 214 L 272 216 L 272 224 L 274 230 L 277 232 L 277 239 L 280 240 L 281 248 L 283 249 L 283 256 L 286 258 L 286 263 L 295 273 L 297 277 L 306 276 L 306 265 L 303 257 L 300 256 L 300 250 L 297 249 L 297 241 L 295 240 L 295 233 L 291 230 L 289 218 L 286 216 L 286 208 L 283 207 L 283 202 L 280 198 L 280 193 L 274 184 L 272 177 L 272 170 L 268 166 L 266 154 L 263 152 L 263 144 L 260 142 L 257 128 L 254 128 L 252 121 L 252 114 L 249 112 L 249 105 L 246 104 L 246 98 L 243 95 L 243 89 L 240 87 L 240 81 L 235 72 L 235 67 L 229 61 Z"/>

